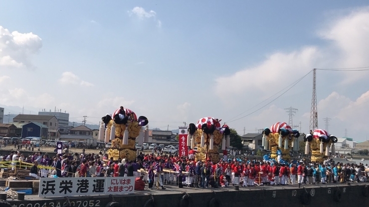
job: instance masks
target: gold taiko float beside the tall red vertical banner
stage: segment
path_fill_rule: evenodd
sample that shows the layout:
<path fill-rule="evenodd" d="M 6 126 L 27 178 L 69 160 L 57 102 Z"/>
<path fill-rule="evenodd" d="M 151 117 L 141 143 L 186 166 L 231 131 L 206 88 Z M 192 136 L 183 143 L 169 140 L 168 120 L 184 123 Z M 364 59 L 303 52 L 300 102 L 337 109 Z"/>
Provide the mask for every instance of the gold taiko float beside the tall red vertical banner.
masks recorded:
<path fill-rule="evenodd" d="M 213 117 L 204 117 L 197 124 L 188 125 L 187 146 L 197 147 L 196 161 L 219 161 L 219 149 L 229 147 L 230 130 L 227 125 L 220 127 L 220 120 Z"/>

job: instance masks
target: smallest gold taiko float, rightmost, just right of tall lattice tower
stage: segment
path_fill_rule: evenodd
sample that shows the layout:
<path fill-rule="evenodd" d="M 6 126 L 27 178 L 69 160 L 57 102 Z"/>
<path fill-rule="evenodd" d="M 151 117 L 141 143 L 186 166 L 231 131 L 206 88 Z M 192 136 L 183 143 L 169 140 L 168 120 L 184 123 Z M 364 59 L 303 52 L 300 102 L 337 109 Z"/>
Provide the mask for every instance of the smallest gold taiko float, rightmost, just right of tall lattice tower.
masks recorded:
<path fill-rule="evenodd" d="M 305 154 L 311 152 L 312 162 L 323 162 L 329 156 L 329 148 L 332 154 L 335 152 L 335 143 L 338 141 L 337 137 L 329 134 L 326 130 L 316 129 L 304 137 Z"/>

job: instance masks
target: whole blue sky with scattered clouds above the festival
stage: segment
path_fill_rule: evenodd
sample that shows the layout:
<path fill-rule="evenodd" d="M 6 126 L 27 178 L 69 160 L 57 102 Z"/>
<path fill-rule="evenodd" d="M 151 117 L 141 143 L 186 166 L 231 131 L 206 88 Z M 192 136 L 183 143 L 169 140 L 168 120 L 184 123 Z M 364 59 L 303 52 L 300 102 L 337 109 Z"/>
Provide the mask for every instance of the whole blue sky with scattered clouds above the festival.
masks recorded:
<path fill-rule="evenodd" d="M 292 106 L 307 132 L 312 74 L 232 118 L 313 68 L 369 66 L 368 19 L 364 0 L 1 1 L 0 103 L 90 123 L 124 105 L 163 129 L 213 116 L 240 134 L 288 122 Z M 330 133 L 365 140 L 369 72 L 317 76 L 320 128 L 330 117 Z"/>

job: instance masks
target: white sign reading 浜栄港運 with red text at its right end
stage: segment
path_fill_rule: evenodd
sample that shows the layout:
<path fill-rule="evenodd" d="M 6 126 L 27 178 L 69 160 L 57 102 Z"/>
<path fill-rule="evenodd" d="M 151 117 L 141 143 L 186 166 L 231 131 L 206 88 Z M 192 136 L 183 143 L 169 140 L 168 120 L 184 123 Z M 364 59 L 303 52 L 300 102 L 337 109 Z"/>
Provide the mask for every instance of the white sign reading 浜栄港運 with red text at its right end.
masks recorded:
<path fill-rule="evenodd" d="M 135 177 L 40 178 L 38 197 L 135 193 Z"/>

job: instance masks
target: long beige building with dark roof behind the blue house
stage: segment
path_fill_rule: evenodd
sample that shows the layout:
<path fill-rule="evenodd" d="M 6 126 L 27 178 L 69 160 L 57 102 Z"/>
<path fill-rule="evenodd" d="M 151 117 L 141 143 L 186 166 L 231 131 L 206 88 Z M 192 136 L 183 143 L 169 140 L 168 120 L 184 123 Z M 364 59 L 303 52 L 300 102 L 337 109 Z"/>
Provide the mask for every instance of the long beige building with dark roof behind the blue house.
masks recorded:
<path fill-rule="evenodd" d="M 15 123 L 38 122 L 48 129 L 58 129 L 58 119 L 54 115 L 18 114 L 13 118 Z"/>

